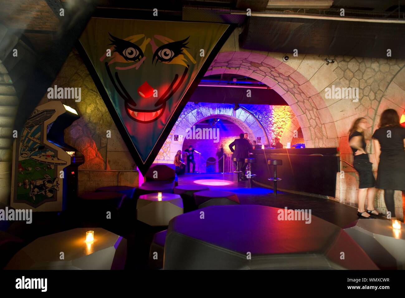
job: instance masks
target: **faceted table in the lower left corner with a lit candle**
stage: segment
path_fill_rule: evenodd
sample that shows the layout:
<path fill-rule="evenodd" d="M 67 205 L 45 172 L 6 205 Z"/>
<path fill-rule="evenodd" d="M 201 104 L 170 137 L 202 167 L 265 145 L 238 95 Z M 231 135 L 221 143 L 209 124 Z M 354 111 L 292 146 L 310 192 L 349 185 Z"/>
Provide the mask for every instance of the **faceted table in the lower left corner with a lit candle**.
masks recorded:
<path fill-rule="evenodd" d="M 94 241 L 85 242 L 94 231 Z M 126 239 L 101 228 L 77 228 L 39 237 L 14 255 L 5 269 L 12 270 L 122 270 Z M 60 259 L 60 253 L 64 259 Z"/>

